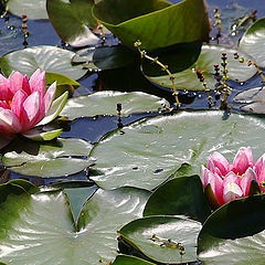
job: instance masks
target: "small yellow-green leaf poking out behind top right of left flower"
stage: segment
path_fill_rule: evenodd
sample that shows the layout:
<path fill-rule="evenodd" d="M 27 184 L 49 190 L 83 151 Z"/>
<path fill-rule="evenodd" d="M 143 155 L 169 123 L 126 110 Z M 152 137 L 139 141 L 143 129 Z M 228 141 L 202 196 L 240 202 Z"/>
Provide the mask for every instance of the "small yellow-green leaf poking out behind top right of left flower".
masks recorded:
<path fill-rule="evenodd" d="M 56 94 L 55 97 L 61 96 L 65 91 L 68 92 L 70 96 L 74 94 L 74 91 L 80 87 L 80 83 L 71 80 L 68 76 L 45 72 L 46 88 L 56 81 Z"/>

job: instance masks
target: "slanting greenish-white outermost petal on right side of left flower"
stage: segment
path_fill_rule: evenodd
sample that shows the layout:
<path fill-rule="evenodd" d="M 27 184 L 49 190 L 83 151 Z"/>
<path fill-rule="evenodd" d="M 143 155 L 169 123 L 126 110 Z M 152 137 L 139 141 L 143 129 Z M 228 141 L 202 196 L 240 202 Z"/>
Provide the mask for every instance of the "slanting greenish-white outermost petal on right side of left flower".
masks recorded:
<path fill-rule="evenodd" d="M 63 95 L 61 95 L 60 97 L 54 99 L 47 114 L 36 126 L 46 125 L 46 124 L 51 123 L 53 119 L 55 119 L 61 114 L 62 109 L 64 108 L 64 106 L 67 102 L 67 98 L 68 98 L 68 92 L 65 92 Z M 56 130 L 56 131 L 60 132 L 59 130 Z M 46 137 L 49 138 L 50 135 Z"/>

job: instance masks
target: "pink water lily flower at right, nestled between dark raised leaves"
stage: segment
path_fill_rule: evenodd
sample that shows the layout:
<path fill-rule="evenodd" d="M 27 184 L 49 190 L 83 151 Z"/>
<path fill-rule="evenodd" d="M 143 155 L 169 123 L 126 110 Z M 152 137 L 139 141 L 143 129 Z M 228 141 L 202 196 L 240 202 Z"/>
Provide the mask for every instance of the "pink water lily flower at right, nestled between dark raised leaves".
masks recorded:
<path fill-rule="evenodd" d="M 213 209 L 250 194 L 252 182 L 264 191 L 265 153 L 254 163 L 252 149 L 241 148 L 232 165 L 220 152 L 214 152 L 201 167 L 201 181 Z"/>

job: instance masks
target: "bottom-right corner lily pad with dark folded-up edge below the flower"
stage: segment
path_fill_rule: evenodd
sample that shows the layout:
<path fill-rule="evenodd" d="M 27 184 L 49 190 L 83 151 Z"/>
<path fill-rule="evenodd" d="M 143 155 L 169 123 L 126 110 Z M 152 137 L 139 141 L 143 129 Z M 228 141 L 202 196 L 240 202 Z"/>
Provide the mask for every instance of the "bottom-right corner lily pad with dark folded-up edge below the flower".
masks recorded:
<path fill-rule="evenodd" d="M 210 215 L 198 240 L 203 264 L 264 264 L 265 195 L 235 200 Z"/>

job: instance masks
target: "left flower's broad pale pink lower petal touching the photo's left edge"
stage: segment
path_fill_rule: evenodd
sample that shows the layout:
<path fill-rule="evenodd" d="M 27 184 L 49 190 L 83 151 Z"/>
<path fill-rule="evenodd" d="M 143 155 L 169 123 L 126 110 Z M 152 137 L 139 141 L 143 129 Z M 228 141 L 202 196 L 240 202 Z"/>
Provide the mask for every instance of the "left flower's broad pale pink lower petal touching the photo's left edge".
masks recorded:
<path fill-rule="evenodd" d="M 0 107 L 0 131 L 7 135 L 21 131 L 21 125 L 15 114 Z"/>

